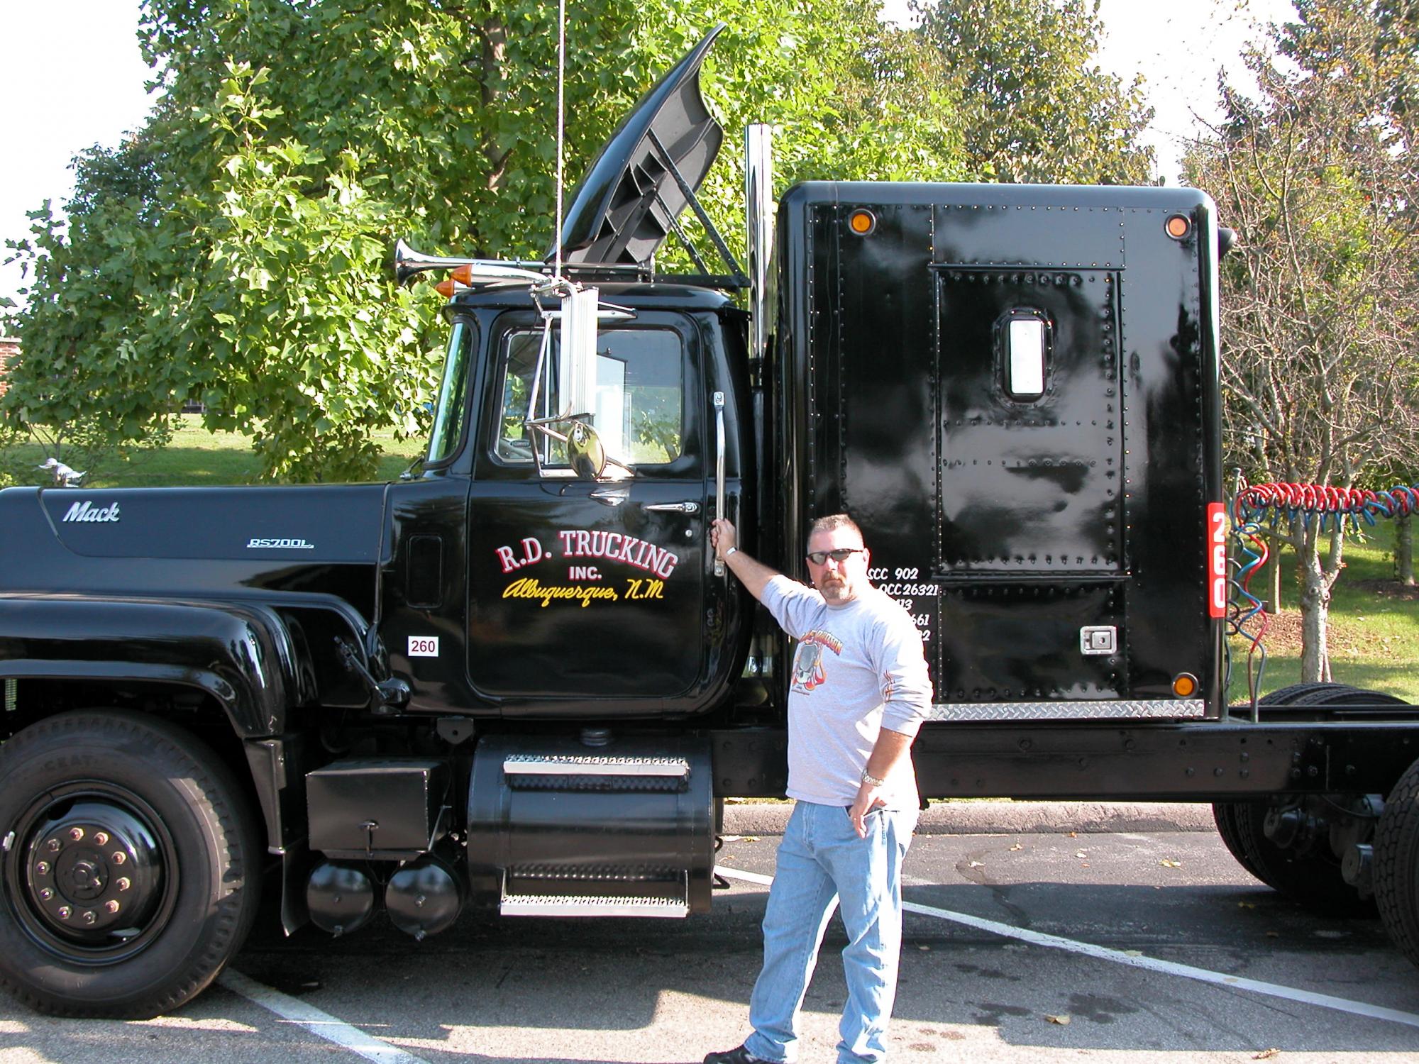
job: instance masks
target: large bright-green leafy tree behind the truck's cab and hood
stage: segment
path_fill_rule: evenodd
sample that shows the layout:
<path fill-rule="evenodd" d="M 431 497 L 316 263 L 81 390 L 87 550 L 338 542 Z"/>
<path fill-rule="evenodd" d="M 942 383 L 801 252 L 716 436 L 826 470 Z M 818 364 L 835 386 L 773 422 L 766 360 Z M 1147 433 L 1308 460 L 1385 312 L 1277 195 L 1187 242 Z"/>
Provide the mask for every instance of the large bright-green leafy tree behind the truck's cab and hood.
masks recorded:
<path fill-rule="evenodd" d="M 779 128 L 780 184 L 1036 174 L 972 153 L 965 82 L 939 41 L 877 11 L 877 0 L 576 4 L 566 184 L 719 18 L 729 28 L 705 92 L 729 145 L 749 121 Z M 1091 47 L 1061 50 L 1043 30 L 1050 70 Z M 11 321 L 23 358 L 0 413 L 89 417 L 123 444 L 160 437 L 183 400 L 200 400 L 210 427 L 255 434 L 268 475 L 370 475 L 370 433 L 420 430 L 440 358 L 438 301 L 385 272 L 394 235 L 501 258 L 551 245 L 556 4 L 145 0 L 139 35 L 163 95 L 143 129 L 78 160 L 67 227 L 48 204 L 33 216 L 16 251 L 30 277 Z M 1127 113 L 1081 115 L 1071 136 L 1127 140 L 1135 125 L 1088 129 Z M 736 152 L 725 156 L 702 199 L 732 247 L 742 183 Z"/>

